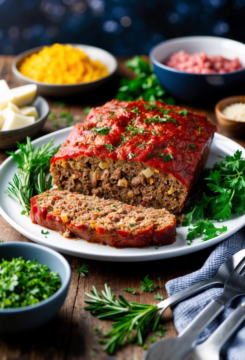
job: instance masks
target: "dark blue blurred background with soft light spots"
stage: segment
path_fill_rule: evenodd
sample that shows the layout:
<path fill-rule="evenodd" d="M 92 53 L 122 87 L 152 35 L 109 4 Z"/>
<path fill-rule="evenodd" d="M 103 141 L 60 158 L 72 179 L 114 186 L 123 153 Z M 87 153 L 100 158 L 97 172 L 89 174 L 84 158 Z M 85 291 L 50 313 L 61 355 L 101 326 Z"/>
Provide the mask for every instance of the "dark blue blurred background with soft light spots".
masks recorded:
<path fill-rule="evenodd" d="M 245 0 L 0 0 L 0 53 L 73 42 L 148 54 L 172 37 L 245 42 Z"/>

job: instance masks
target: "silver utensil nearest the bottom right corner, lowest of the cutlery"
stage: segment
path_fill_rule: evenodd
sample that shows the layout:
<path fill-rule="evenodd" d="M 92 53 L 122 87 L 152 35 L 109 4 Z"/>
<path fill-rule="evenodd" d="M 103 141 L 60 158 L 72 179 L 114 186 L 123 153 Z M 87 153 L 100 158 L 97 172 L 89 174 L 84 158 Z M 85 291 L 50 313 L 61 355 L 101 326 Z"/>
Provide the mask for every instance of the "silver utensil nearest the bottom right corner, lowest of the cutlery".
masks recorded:
<path fill-rule="evenodd" d="M 245 302 L 228 316 L 225 321 L 202 344 L 191 350 L 184 360 L 219 360 L 219 352 L 226 341 L 245 320 Z"/>

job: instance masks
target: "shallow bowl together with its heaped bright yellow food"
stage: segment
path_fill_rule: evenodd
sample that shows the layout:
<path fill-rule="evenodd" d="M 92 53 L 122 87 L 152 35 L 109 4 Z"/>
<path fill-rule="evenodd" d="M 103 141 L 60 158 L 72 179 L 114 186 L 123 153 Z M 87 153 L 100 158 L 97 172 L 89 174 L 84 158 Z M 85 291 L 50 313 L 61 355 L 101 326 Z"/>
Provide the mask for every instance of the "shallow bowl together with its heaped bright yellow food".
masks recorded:
<path fill-rule="evenodd" d="M 39 94 L 69 96 L 93 90 L 116 71 L 116 58 L 89 45 L 53 44 L 18 55 L 12 71 L 23 84 L 36 84 Z"/>

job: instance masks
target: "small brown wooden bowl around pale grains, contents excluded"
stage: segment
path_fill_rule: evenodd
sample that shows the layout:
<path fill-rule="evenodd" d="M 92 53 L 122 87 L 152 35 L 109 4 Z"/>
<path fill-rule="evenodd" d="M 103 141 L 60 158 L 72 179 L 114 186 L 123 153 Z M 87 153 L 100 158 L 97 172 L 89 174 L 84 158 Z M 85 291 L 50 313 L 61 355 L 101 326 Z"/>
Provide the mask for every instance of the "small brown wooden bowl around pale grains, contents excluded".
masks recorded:
<path fill-rule="evenodd" d="M 245 137 L 245 121 L 236 121 L 231 120 L 226 117 L 222 111 L 225 109 L 226 106 L 235 104 L 235 103 L 245 103 L 245 95 L 237 95 L 237 96 L 230 96 L 229 98 L 225 98 L 220 100 L 215 106 L 215 114 L 217 121 L 223 129 L 230 132 L 231 135 L 237 138 L 244 138 Z"/>

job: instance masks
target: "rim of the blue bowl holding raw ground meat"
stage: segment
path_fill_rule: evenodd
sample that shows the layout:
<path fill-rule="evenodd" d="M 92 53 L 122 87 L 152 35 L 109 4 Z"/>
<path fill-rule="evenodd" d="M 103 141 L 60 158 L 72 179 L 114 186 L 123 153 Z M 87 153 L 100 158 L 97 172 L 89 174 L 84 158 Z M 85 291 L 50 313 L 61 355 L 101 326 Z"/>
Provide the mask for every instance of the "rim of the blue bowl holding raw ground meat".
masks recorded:
<path fill-rule="evenodd" d="M 226 73 L 217 73 L 217 74 L 195 74 L 192 72 L 186 72 L 186 71 L 181 71 L 181 70 L 177 70 L 175 68 L 171 68 L 170 66 L 164 65 L 162 63 L 160 63 L 158 60 L 156 60 L 153 57 L 153 52 L 160 46 L 162 46 L 163 44 L 169 44 L 171 42 L 182 42 L 182 40 L 189 40 L 189 41 L 197 41 L 197 40 L 204 40 L 204 39 L 219 39 L 219 40 L 228 40 L 231 42 L 234 42 L 236 44 L 240 44 L 244 46 L 244 50 L 245 50 L 245 44 L 243 42 L 237 41 L 237 40 L 233 40 L 233 39 L 228 39 L 226 37 L 219 37 L 219 36 L 205 36 L 205 35 L 197 35 L 197 36 L 181 36 L 181 37 L 175 37 L 173 39 L 168 39 L 168 40 L 164 40 L 162 42 L 160 42 L 159 44 L 156 44 L 153 46 L 153 48 L 151 48 L 151 50 L 149 51 L 149 58 L 151 59 L 153 64 L 156 64 L 158 67 L 167 70 L 167 71 L 171 71 L 174 73 L 179 73 L 179 74 L 183 74 L 183 75 L 188 75 L 188 76 L 229 76 L 229 75 L 234 75 L 236 73 L 240 73 L 240 72 L 245 72 L 245 67 L 241 68 L 240 70 L 235 70 L 235 71 L 230 71 L 230 72 L 226 72 Z"/>

